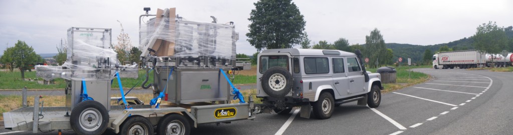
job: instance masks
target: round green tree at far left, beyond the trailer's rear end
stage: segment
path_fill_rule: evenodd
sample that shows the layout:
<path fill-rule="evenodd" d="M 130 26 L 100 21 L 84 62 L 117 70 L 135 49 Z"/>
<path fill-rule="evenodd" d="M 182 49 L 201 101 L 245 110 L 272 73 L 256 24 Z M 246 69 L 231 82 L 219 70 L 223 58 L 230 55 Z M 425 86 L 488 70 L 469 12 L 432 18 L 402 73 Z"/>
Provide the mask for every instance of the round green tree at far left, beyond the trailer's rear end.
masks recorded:
<path fill-rule="evenodd" d="M 32 46 L 28 46 L 25 41 L 21 40 L 18 40 L 18 42 L 14 44 L 11 57 L 13 66 L 18 68 L 22 73 L 22 79 L 25 79 L 25 70 L 29 70 L 31 68 L 29 65 L 33 65 L 38 60 L 41 60 L 41 56 L 35 53 L 34 48 L 32 48 Z"/>

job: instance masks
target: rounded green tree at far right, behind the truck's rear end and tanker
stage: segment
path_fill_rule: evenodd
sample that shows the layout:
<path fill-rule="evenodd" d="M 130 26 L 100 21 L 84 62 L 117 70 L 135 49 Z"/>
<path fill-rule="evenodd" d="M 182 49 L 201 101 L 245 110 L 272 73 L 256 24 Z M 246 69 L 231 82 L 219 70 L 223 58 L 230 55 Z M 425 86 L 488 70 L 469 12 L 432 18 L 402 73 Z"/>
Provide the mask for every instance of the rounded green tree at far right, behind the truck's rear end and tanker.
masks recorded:
<path fill-rule="evenodd" d="M 472 46 L 481 53 L 498 54 L 506 48 L 508 37 L 504 28 L 497 26 L 496 22 L 489 21 L 479 25 L 476 34 L 472 36 Z M 492 55 L 493 56 L 493 55 Z M 492 59 L 492 63 L 493 63 Z"/>

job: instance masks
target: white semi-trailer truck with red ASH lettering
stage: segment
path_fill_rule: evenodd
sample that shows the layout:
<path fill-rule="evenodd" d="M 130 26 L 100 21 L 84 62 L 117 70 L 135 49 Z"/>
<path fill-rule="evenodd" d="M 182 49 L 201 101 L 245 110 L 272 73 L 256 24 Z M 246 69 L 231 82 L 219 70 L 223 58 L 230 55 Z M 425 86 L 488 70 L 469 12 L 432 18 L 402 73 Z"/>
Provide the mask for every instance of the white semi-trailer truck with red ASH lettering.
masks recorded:
<path fill-rule="evenodd" d="M 477 50 L 444 51 L 433 55 L 433 68 L 460 69 L 486 66 L 486 55 Z"/>

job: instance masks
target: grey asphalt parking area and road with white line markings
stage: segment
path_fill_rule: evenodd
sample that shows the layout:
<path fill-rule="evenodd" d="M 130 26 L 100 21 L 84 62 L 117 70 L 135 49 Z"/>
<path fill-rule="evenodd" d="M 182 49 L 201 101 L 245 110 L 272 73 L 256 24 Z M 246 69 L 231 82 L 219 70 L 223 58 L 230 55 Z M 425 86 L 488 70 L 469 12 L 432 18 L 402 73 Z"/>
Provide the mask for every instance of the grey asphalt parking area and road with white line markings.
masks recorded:
<path fill-rule="evenodd" d="M 252 121 L 203 124 L 193 134 L 511 134 L 511 72 L 414 69 L 432 78 L 382 95 L 375 110 L 356 102 L 336 107 L 330 119 L 258 114 Z M 291 117 L 292 116 L 292 117 Z M 10 130 L 0 129 L 0 132 Z M 47 134 L 55 134 L 51 132 Z M 1 133 L 0 133 L 1 134 Z M 30 134 L 17 132 L 9 134 Z M 44 133 L 39 133 L 44 134 Z M 64 134 L 73 134 L 64 132 Z"/>

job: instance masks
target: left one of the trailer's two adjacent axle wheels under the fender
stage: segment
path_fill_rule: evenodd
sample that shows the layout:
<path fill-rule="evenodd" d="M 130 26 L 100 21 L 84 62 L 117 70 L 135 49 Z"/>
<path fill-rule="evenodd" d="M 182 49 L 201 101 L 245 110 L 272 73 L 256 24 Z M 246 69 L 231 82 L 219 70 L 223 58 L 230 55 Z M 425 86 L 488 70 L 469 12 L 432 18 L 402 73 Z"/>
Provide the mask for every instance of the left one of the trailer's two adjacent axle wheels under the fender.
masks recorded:
<path fill-rule="evenodd" d="M 121 124 L 120 135 L 152 135 L 153 126 L 150 120 L 142 116 L 128 117 Z"/>

